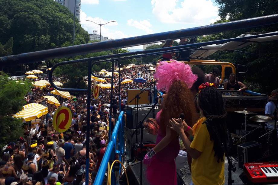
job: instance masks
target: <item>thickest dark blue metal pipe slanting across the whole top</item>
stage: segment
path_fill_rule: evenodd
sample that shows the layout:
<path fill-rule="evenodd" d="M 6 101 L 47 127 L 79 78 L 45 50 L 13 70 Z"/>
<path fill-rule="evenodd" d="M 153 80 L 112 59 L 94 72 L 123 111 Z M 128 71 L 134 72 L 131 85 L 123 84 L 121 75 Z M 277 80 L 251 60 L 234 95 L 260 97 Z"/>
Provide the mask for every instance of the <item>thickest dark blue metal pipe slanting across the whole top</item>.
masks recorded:
<path fill-rule="evenodd" d="M 238 21 L 231 21 L 219 24 L 211 24 L 207 26 L 200 26 L 194 28 L 187 28 L 183 30 L 168 31 L 163 33 L 154 33 L 143 35 L 139 37 L 130 37 L 117 40 L 108 40 L 97 43 L 88 43 L 78 46 L 68 46 L 62 48 L 48 49 L 43 51 L 36 51 L 24 53 L 19 55 L 5 56 L 0 58 L 0 63 L 4 65 L 7 63 L 20 64 L 25 62 L 36 62 L 46 59 L 54 59 L 68 56 L 76 56 L 85 53 L 92 53 L 97 51 L 105 51 L 117 48 L 124 48 L 130 46 L 138 46 L 147 43 L 155 43 L 162 40 L 180 39 L 184 37 L 195 37 L 199 35 L 219 33 L 224 31 L 263 26 L 268 24 L 275 24 L 278 22 L 278 14 L 262 16 L 257 18 L 249 18 Z"/>

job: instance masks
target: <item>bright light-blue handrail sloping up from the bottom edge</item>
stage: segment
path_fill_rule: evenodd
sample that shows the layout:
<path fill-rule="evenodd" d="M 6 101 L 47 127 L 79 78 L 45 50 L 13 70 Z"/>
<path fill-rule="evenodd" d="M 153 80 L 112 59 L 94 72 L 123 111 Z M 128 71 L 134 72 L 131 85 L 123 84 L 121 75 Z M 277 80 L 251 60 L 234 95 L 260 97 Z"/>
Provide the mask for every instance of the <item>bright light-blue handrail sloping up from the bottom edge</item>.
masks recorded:
<path fill-rule="evenodd" d="M 117 142 L 117 136 L 118 136 L 118 142 Z M 96 174 L 94 185 L 102 185 L 108 162 L 110 161 L 110 159 L 113 160 L 115 158 L 115 153 L 119 154 L 119 161 L 121 161 L 121 155 L 123 154 L 123 152 L 124 152 L 124 112 L 121 111 L 117 123 L 113 129 L 111 141 L 108 143 L 105 154 L 99 166 L 99 171 Z M 112 171 L 111 177 L 114 176 L 115 176 L 114 171 Z M 115 178 L 112 178 L 111 183 L 112 184 L 116 183 Z"/>

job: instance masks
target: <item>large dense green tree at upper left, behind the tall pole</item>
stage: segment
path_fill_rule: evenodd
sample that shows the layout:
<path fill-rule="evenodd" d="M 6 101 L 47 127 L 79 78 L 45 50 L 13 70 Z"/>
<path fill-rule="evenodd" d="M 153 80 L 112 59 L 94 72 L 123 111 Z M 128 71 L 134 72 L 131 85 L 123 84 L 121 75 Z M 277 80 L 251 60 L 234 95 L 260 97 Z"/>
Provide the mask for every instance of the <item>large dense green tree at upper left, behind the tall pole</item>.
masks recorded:
<path fill-rule="evenodd" d="M 1 0 L 0 42 L 14 38 L 13 54 L 63 47 L 73 40 L 73 14 L 53 0 Z M 76 19 L 75 44 L 89 41 Z M 28 64 L 35 69 L 38 63 Z"/>

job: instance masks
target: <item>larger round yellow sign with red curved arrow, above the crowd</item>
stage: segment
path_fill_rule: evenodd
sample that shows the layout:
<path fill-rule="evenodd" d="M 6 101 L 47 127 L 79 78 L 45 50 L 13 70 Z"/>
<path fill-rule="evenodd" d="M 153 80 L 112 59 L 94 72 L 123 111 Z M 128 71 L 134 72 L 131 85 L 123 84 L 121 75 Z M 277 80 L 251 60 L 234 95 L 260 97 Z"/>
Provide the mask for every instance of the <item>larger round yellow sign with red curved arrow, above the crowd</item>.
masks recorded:
<path fill-rule="evenodd" d="M 69 108 L 59 107 L 53 116 L 53 128 L 57 132 L 65 132 L 72 122 L 72 114 Z"/>

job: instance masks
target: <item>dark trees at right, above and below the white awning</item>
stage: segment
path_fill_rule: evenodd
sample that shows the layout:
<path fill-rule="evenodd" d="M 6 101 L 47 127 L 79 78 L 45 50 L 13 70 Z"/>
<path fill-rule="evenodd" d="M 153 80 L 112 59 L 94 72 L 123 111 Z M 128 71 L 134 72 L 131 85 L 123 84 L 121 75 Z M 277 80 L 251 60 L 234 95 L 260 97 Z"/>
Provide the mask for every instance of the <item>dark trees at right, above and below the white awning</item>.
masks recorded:
<path fill-rule="evenodd" d="M 246 18 L 259 17 L 264 15 L 276 14 L 278 12 L 278 1 L 273 0 L 216 0 L 219 5 L 220 20 L 215 23 L 234 21 Z M 226 18 L 228 20 L 226 20 Z M 197 42 L 205 42 L 209 40 L 221 40 L 226 38 L 237 37 L 243 33 L 264 33 L 272 32 L 278 29 L 277 24 L 266 25 L 255 28 L 240 29 L 227 31 L 224 33 L 215 33 L 206 37 L 197 37 Z M 261 93 L 269 94 L 273 89 L 277 88 L 276 69 L 278 63 L 275 59 L 267 58 L 270 56 L 278 58 L 277 42 L 252 43 L 242 49 L 244 52 L 254 53 L 257 55 L 243 54 L 237 52 L 218 51 L 209 58 L 218 59 L 226 62 L 233 62 L 236 64 L 246 65 L 248 67 L 247 73 L 239 74 L 239 79 L 247 83 L 256 83 L 261 89 L 257 89 Z M 205 67 L 205 71 L 209 72 L 210 68 Z M 239 66 L 239 72 L 244 72 L 246 69 Z M 228 78 L 230 72 L 226 72 Z"/>

